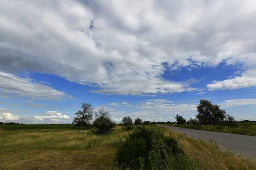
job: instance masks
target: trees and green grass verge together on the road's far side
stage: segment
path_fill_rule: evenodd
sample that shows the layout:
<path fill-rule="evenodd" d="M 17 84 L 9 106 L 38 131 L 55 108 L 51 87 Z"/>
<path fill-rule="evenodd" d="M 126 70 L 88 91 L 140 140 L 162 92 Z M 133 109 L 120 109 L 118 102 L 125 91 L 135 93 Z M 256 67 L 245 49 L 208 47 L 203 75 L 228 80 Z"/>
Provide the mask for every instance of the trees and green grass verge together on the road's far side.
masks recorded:
<path fill-rule="evenodd" d="M 198 114 L 195 118 L 186 121 L 182 116 L 177 115 L 177 123 L 169 123 L 169 126 L 184 127 L 196 130 L 207 130 L 223 133 L 234 133 L 240 135 L 256 136 L 256 123 L 244 121 L 239 123 L 218 105 L 202 99 L 197 106 Z"/>

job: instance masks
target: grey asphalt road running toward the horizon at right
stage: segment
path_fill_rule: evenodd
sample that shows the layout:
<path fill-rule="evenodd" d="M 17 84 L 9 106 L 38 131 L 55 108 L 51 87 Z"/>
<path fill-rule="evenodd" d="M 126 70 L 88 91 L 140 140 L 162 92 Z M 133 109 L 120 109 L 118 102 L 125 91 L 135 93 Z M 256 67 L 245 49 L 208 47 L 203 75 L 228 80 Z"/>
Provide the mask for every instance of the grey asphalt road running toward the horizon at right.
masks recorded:
<path fill-rule="evenodd" d="M 237 135 L 232 133 L 211 132 L 205 130 L 194 130 L 183 127 L 165 126 L 170 130 L 185 133 L 187 136 L 204 140 L 212 139 L 218 142 L 221 149 L 231 149 L 234 153 L 245 157 L 256 159 L 256 136 Z"/>

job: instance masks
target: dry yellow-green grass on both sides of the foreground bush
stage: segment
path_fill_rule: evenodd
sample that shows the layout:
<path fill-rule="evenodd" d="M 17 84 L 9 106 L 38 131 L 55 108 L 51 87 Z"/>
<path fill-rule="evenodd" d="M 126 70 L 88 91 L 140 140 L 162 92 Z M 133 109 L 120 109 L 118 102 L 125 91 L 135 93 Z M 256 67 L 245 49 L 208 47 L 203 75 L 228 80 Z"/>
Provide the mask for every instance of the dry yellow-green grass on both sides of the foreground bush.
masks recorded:
<path fill-rule="evenodd" d="M 186 155 L 198 162 L 198 170 L 256 169 L 255 161 L 223 152 L 215 142 L 192 139 L 156 125 L 152 128 L 176 137 Z M 126 134 L 121 126 L 100 136 L 72 128 L 0 129 L 0 170 L 116 170 L 113 158 L 119 139 Z"/>

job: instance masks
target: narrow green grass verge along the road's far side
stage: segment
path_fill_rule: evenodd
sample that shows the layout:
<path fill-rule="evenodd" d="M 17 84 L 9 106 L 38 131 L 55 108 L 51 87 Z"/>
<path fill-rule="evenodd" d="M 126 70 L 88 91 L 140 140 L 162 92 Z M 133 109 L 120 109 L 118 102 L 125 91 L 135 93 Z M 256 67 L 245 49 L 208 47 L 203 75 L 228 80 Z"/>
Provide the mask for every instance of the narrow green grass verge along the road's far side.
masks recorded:
<path fill-rule="evenodd" d="M 244 125 L 245 124 L 245 125 Z M 184 127 L 189 129 L 197 129 L 197 130 L 207 130 L 207 131 L 214 131 L 214 132 L 223 132 L 223 133 L 234 133 L 240 135 L 250 135 L 256 136 L 256 125 L 255 123 L 239 123 L 238 127 L 228 127 L 228 126 L 221 126 L 221 125 L 177 125 L 177 124 L 170 124 L 168 126 L 176 126 L 176 127 Z"/>

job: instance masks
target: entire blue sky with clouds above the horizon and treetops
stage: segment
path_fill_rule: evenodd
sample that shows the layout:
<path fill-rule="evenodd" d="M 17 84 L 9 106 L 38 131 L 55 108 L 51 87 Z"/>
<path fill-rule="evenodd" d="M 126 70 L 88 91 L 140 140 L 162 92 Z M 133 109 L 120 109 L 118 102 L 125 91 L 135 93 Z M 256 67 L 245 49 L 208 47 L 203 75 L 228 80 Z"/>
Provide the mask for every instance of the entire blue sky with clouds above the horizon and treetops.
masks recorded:
<path fill-rule="evenodd" d="M 255 0 L 0 0 L 0 122 L 256 120 Z"/>

